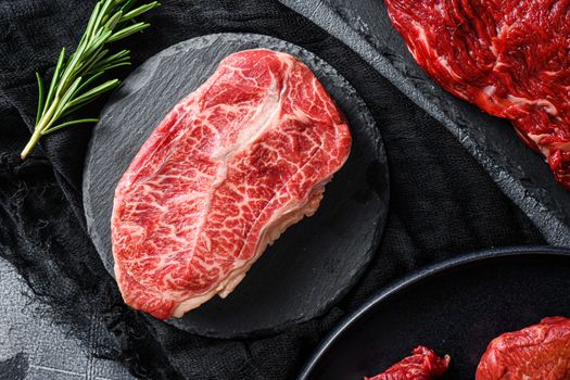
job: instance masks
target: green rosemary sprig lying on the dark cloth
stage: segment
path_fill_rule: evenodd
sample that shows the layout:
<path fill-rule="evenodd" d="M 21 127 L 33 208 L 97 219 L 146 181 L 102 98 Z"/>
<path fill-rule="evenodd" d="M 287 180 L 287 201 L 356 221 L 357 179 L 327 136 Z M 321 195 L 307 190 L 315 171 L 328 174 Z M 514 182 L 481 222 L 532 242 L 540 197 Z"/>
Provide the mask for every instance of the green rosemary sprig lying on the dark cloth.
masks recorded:
<path fill-rule="evenodd" d="M 61 50 L 47 93 L 41 76 L 36 73 L 38 80 L 36 126 L 31 138 L 22 151 L 23 160 L 28 156 L 42 136 L 72 125 L 98 122 L 97 118 L 62 122 L 62 118 L 121 84 L 118 79 L 97 84 L 106 71 L 130 65 L 130 51 L 122 50 L 110 54 L 105 47 L 148 28 L 150 24 L 135 22 L 134 18 L 161 5 L 157 1 L 153 1 L 135 8 L 135 3 L 136 0 L 97 1 L 75 52 L 66 59 L 65 48 Z"/>

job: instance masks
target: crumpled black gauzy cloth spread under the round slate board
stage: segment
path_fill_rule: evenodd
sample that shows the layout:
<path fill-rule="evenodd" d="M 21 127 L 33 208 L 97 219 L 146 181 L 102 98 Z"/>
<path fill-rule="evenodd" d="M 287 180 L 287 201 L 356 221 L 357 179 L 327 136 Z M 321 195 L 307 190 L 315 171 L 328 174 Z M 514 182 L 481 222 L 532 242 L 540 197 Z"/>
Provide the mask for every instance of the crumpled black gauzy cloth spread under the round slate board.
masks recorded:
<path fill-rule="evenodd" d="M 46 317 L 86 342 L 100 331 L 97 346 L 88 346 L 94 355 L 147 379 L 289 379 L 339 318 L 390 281 L 466 251 L 543 243 L 443 126 L 304 17 L 269 0 L 164 0 L 145 17 L 152 28 L 125 42 L 135 65 L 178 41 L 219 31 L 267 34 L 313 51 L 351 81 L 378 122 L 391 168 L 391 211 L 358 286 L 322 317 L 283 333 L 205 339 L 128 309 L 85 231 L 80 181 L 89 127 L 54 134 L 29 160 L 18 157 L 35 114 L 34 71 L 49 72 L 58 50 L 75 46 L 91 7 L 86 0 L 0 2 L 0 254 L 46 305 Z"/>

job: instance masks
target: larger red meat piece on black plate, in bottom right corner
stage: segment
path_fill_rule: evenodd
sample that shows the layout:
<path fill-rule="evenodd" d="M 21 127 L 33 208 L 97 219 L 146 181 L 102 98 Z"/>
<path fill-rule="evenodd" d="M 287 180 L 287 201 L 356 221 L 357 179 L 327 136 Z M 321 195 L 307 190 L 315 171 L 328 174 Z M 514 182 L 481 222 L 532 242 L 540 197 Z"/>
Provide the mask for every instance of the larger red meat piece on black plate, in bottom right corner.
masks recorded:
<path fill-rule="evenodd" d="M 495 338 L 479 363 L 476 380 L 499 379 L 570 380 L 570 319 L 544 318 Z"/>

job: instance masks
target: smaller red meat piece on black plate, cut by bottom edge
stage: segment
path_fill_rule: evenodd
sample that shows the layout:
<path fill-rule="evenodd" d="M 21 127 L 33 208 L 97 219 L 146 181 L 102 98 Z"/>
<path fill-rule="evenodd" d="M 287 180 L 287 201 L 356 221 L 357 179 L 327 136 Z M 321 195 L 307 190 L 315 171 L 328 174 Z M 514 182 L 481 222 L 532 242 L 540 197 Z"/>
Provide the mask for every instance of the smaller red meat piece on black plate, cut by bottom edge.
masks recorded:
<path fill-rule="evenodd" d="M 431 380 L 445 373 L 449 356 L 443 358 L 425 346 L 417 346 L 408 356 L 388 368 L 384 372 L 365 380 Z"/>

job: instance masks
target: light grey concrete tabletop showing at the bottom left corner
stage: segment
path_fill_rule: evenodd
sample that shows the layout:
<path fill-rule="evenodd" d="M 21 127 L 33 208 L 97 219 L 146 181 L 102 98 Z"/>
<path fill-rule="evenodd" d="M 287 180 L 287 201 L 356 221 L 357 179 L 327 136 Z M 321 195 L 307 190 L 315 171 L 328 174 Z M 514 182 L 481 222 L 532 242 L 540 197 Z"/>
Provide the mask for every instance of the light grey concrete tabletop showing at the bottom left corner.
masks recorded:
<path fill-rule="evenodd" d="M 0 380 L 135 379 L 118 363 L 88 357 L 75 338 L 38 313 L 26 288 L 0 259 Z"/>

